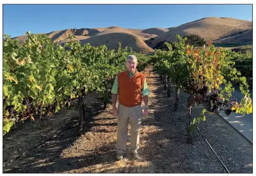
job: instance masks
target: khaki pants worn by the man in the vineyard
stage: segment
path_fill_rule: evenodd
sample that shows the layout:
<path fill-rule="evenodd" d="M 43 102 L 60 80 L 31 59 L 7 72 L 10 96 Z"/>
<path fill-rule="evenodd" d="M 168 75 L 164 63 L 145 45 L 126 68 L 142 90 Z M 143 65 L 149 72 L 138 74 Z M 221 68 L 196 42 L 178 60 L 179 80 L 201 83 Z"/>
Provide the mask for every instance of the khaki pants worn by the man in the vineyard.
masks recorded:
<path fill-rule="evenodd" d="M 117 153 L 124 153 L 128 138 L 128 123 L 131 126 L 131 152 L 139 148 L 139 128 L 143 116 L 142 107 L 125 107 L 118 105 L 117 109 Z"/>

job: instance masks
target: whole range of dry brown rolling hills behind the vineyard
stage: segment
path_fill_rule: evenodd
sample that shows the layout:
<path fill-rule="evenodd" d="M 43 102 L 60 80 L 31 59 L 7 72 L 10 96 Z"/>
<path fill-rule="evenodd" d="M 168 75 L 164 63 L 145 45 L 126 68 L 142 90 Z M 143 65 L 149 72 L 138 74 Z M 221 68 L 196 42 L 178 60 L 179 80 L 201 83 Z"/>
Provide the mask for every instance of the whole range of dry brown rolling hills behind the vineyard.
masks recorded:
<path fill-rule="evenodd" d="M 120 26 L 106 28 L 72 28 L 58 30 L 48 35 L 53 42 L 64 45 L 69 42 L 69 35 L 75 35 L 74 40 L 81 44 L 90 43 L 93 46 L 105 44 L 110 49 L 118 49 L 118 42 L 122 47 L 132 47 L 137 52 L 151 53 L 158 42 L 175 41 L 176 34 L 195 34 L 206 41 L 213 41 L 215 45 L 248 45 L 252 44 L 252 21 L 234 18 L 208 17 L 184 23 L 170 28 L 129 29 Z M 14 37 L 20 44 L 25 36 Z"/>

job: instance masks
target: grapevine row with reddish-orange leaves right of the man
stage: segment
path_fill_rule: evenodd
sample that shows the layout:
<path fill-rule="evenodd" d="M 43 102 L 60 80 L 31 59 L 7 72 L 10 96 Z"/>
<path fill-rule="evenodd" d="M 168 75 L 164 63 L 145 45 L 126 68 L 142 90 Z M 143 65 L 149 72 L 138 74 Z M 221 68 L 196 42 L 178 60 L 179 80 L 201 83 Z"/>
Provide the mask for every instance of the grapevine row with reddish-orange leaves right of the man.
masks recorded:
<path fill-rule="evenodd" d="M 167 44 L 168 51 L 157 50 L 155 56 L 155 70 L 167 76 L 176 86 L 176 103 L 179 88 L 189 94 L 187 100 L 187 131 L 188 142 L 192 142 L 191 131 L 195 124 L 205 120 L 205 114 L 219 114 L 224 110 L 227 115 L 231 112 L 240 114 L 252 113 L 252 99 L 248 90 L 246 78 L 233 67 L 233 55 L 226 49 L 217 49 L 211 42 L 207 47 L 194 48 L 185 45 L 186 38 L 177 35 L 177 42 Z M 233 98 L 234 91 L 231 81 L 239 83 L 244 97 L 241 102 Z M 197 118 L 191 117 L 193 105 L 202 104 L 204 109 Z"/>

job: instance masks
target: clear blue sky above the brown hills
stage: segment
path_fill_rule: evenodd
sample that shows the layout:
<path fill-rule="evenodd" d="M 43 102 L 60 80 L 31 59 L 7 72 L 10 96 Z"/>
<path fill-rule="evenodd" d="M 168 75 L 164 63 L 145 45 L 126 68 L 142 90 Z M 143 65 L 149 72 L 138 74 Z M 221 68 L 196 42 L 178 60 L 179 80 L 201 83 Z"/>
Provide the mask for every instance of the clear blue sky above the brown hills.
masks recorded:
<path fill-rule="evenodd" d="M 169 28 L 210 16 L 252 21 L 252 5 L 4 4 L 3 32 L 16 37 L 67 28 Z"/>

